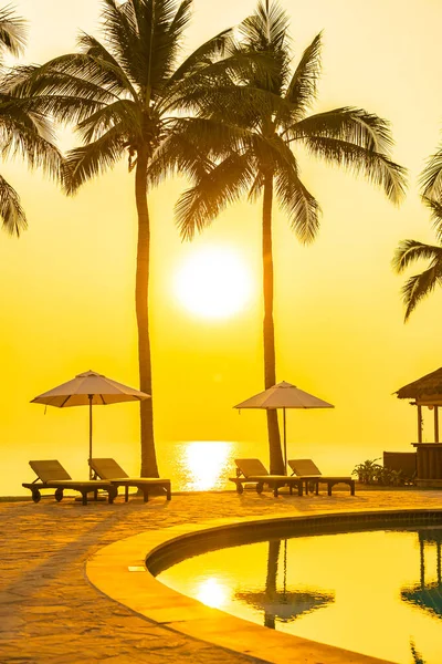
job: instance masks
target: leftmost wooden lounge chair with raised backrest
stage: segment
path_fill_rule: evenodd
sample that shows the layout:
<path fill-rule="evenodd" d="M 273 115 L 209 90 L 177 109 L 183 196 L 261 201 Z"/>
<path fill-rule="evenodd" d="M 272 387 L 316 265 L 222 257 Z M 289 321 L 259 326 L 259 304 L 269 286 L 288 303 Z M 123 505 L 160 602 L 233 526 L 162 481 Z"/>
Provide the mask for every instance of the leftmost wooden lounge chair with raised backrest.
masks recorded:
<path fill-rule="evenodd" d="M 55 489 L 55 500 L 63 500 L 64 489 L 80 491 L 83 497 L 83 505 L 87 505 L 87 494 L 94 494 L 97 499 L 98 489 L 107 491 L 108 502 L 113 502 L 117 495 L 117 489 L 109 481 L 85 480 L 76 481 L 71 478 L 60 461 L 53 459 L 49 461 L 29 461 L 32 470 L 36 475 L 33 483 L 23 483 L 25 489 L 31 489 L 32 500 L 39 502 L 41 499 L 41 489 Z M 40 481 L 39 481 L 40 480 Z"/>

